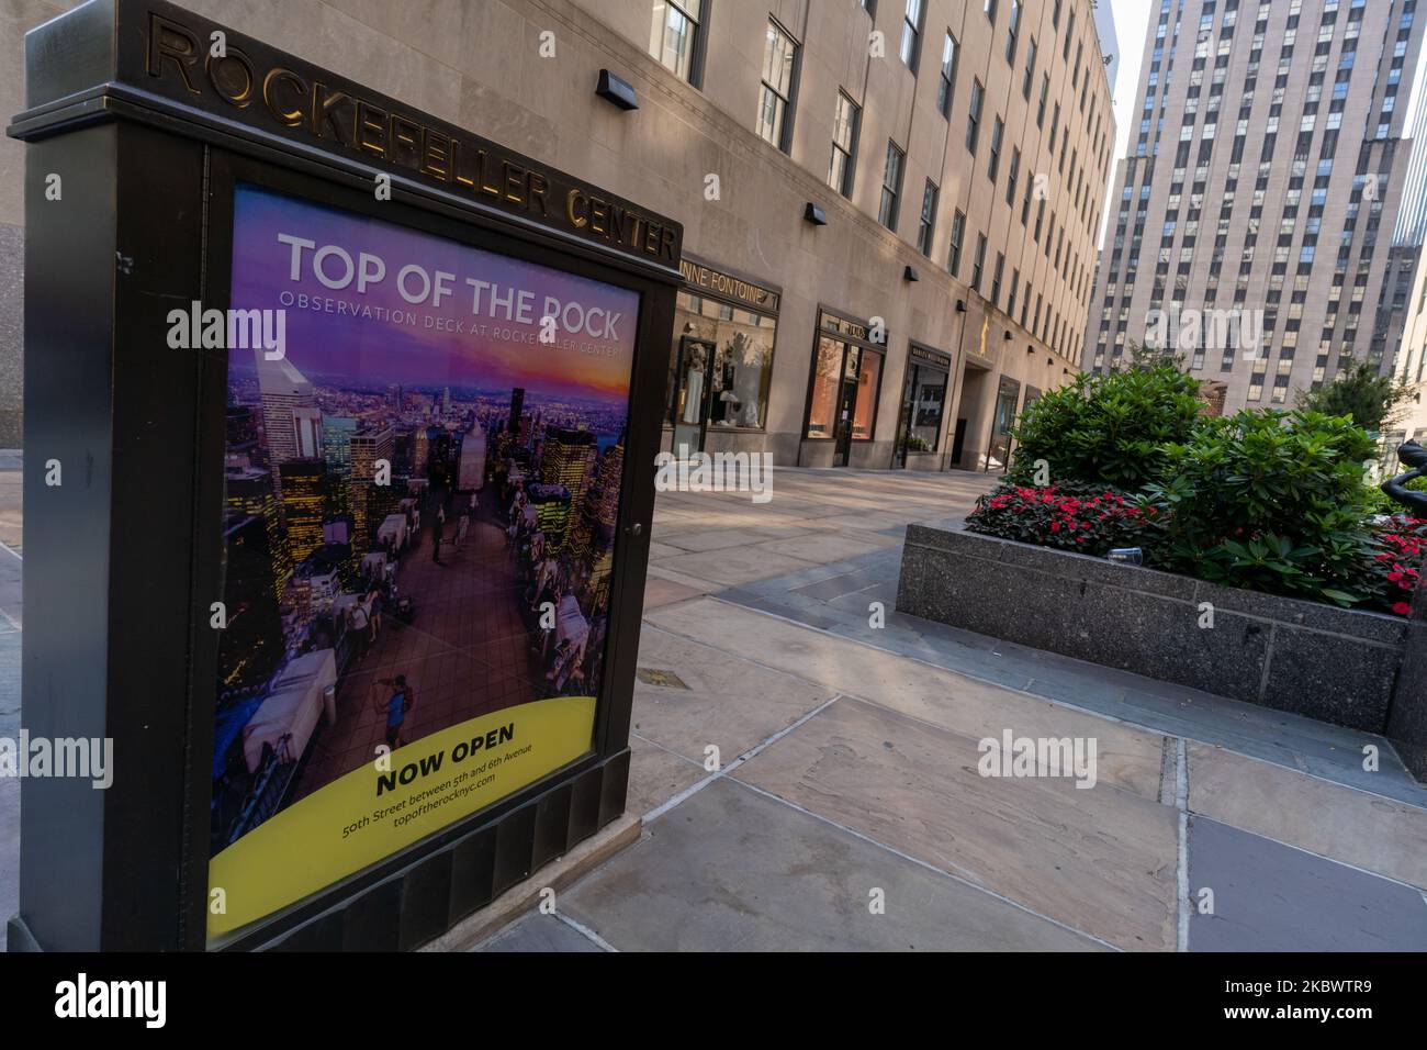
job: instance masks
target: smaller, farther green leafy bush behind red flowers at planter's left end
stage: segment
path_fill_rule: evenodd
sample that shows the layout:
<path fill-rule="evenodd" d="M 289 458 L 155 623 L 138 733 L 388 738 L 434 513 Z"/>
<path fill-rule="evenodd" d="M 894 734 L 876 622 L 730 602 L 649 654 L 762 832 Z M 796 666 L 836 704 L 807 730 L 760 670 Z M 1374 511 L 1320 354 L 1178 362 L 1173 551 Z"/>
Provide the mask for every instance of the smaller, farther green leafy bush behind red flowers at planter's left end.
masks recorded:
<path fill-rule="evenodd" d="M 1010 477 L 1026 484 L 1036 460 L 1050 480 L 1139 489 L 1159 476 L 1160 447 L 1190 440 L 1199 381 L 1173 363 L 1104 376 L 1082 373 L 1022 413 Z"/>

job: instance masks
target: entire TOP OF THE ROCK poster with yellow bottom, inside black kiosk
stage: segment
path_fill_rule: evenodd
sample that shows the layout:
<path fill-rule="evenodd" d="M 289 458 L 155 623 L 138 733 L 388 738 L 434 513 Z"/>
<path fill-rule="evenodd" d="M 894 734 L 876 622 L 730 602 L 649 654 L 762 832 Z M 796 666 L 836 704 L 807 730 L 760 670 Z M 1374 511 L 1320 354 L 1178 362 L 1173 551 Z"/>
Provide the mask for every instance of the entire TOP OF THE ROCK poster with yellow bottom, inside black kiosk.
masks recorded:
<path fill-rule="evenodd" d="M 240 186 L 208 936 L 591 749 L 636 293 Z"/>

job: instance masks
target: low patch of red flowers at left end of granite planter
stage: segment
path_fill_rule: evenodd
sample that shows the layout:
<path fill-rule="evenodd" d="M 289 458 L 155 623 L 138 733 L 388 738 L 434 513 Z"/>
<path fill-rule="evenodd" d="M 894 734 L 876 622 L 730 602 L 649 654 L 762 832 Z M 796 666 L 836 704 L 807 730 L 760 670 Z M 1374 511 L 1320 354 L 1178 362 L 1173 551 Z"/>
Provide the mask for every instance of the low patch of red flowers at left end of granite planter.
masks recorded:
<path fill-rule="evenodd" d="M 1112 486 L 1002 484 L 976 500 L 966 529 L 1003 540 L 1103 557 L 1116 547 L 1146 547 L 1157 533 L 1157 507 Z"/>

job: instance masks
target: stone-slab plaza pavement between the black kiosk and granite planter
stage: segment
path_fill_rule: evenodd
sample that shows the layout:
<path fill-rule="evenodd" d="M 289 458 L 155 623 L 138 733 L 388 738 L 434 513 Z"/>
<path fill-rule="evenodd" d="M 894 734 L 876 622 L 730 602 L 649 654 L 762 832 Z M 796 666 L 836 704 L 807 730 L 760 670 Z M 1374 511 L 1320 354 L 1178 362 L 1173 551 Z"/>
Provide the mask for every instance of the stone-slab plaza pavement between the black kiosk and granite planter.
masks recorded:
<path fill-rule="evenodd" d="M 893 613 L 902 527 L 992 480 L 661 494 L 645 833 L 482 949 L 1427 949 L 1427 791 L 1386 740 Z M 1099 781 L 982 777 L 1005 729 L 1093 737 Z"/>

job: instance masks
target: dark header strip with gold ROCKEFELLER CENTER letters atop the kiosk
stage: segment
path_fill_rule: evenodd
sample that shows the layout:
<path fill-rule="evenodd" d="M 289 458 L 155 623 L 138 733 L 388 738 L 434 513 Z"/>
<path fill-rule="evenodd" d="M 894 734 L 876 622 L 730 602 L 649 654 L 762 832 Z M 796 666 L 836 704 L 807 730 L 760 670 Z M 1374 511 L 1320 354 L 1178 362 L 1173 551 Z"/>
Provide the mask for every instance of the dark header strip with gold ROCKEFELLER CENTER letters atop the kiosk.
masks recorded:
<path fill-rule="evenodd" d="M 121 14 L 134 9 L 123 7 Z M 121 53 L 131 83 L 261 131 L 337 149 L 582 240 L 674 267 L 682 227 L 492 141 L 157 0 Z M 210 44 L 224 34 L 223 57 Z M 141 64 L 141 73 L 133 69 Z M 137 74 L 137 76 L 136 76 Z"/>

